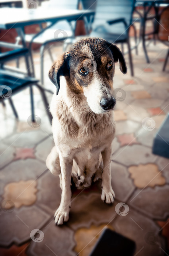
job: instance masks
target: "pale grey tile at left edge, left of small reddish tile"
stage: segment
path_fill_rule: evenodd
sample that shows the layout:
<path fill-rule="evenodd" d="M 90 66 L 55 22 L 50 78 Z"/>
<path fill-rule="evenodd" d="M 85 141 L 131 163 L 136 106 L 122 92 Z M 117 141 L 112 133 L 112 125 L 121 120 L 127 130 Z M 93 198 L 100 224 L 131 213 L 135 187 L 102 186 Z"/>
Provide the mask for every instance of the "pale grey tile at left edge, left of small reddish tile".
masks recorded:
<path fill-rule="evenodd" d="M 15 148 L 7 146 L 3 142 L 0 143 L 0 168 L 7 165 L 14 158 Z"/>

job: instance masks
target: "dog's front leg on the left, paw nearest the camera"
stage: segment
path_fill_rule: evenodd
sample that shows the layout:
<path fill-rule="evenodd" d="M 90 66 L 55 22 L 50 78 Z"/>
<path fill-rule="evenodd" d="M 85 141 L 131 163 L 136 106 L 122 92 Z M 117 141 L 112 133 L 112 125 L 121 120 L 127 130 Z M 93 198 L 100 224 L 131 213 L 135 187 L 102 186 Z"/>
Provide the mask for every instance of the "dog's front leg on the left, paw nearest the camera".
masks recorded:
<path fill-rule="evenodd" d="M 72 192 L 70 189 L 71 182 L 71 174 L 72 174 L 72 165 L 73 160 L 68 157 L 63 157 L 59 153 L 60 166 L 61 166 L 61 174 L 62 174 L 62 195 L 61 195 L 61 203 L 59 208 L 55 212 L 55 223 L 61 225 L 64 221 L 68 221 L 69 219 L 69 211 L 70 211 L 70 202 Z"/>

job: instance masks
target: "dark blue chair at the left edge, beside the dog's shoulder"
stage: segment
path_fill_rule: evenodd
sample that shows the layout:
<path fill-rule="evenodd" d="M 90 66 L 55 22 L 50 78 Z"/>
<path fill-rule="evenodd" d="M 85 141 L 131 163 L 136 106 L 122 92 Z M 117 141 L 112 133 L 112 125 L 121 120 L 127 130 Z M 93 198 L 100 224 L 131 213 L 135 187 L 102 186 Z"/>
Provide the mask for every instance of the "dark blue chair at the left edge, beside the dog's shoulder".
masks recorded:
<path fill-rule="evenodd" d="M 30 76 L 25 76 L 24 74 L 17 74 L 16 72 L 11 72 L 6 69 L 3 69 L 3 65 L 6 61 L 16 59 L 20 56 L 24 56 L 28 53 L 28 49 L 16 49 L 10 52 L 0 53 L 0 102 L 4 103 L 4 99 L 9 99 L 9 103 L 11 108 L 15 114 L 15 117 L 18 118 L 18 113 L 16 112 L 14 103 L 12 101 L 11 95 L 18 93 L 19 91 L 25 89 L 26 87 L 30 87 L 30 98 L 31 98 L 31 114 L 32 114 L 32 122 L 35 121 L 34 115 L 34 99 L 33 99 L 33 91 L 32 86 L 35 85 L 41 92 L 43 103 L 45 105 L 45 109 L 47 111 L 47 115 L 49 117 L 50 123 L 52 120 L 51 114 L 49 112 L 49 104 L 47 102 L 47 98 L 44 91 L 49 90 L 43 89 L 41 85 L 38 84 L 39 80 L 36 78 L 32 78 Z"/>

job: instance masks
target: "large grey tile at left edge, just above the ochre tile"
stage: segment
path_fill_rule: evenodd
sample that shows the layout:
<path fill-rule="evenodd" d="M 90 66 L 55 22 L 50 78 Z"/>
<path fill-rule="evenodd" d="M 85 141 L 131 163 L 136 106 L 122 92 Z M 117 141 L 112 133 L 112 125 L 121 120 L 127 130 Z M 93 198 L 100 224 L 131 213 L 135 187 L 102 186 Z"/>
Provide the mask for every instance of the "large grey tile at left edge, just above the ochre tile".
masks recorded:
<path fill-rule="evenodd" d="M 45 163 L 37 159 L 13 161 L 0 171 L 0 195 L 9 182 L 34 180 L 47 170 Z M 8 174 L 8 175 L 7 175 Z"/>

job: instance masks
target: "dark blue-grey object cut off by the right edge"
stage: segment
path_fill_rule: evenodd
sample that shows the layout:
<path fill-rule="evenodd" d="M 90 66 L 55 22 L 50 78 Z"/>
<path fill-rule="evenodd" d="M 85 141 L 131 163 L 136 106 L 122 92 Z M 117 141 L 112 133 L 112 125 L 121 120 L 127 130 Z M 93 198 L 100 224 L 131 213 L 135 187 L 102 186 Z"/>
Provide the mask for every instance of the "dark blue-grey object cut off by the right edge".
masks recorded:
<path fill-rule="evenodd" d="M 169 158 L 169 113 L 155 134 L 153 154 Z"/>

